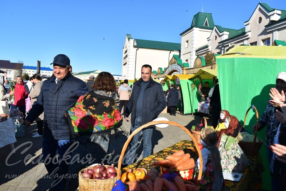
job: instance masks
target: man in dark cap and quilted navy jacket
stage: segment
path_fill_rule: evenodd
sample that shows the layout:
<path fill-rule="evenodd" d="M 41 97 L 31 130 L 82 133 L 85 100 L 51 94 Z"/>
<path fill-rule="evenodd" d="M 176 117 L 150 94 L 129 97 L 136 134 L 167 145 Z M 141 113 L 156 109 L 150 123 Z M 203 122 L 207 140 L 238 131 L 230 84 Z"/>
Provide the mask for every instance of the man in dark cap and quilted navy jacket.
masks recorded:
<path fill-rule="evenodd" d="M 55 179 L 55 174 L 65 175 L 69 167 L 68 157 L 60 161 L 71 145 L 70 131 L 64 113 L 73 107 L 77 99 L 85 95 L 88 90 L 82 80 L 69 72 L 70 60 L 66 55 L 57 55 L 52 64 L 54 74 L 43 82 L 37 101 L 33 104 L 24 123 L 29 127 L 31 122 L 44 112 L 43 160 L 49 157 L 56 158 L 56 151 L 58 151 L 58 161 L 53 159 L 45 162 L 48 173 Z M 65 182 L 63 178 L 50 190 L 64 190 Z"/>

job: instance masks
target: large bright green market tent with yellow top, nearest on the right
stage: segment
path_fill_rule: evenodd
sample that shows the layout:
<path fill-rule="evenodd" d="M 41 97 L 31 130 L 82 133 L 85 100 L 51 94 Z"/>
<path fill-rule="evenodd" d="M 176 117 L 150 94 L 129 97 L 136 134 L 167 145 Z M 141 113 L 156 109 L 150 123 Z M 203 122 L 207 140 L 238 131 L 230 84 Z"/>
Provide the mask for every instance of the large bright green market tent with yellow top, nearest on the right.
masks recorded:
<path fill-rule="evenodd" d="M 276 76 L 285 72 L 286 47 L 283 46 L 236 46 L 226 54 L 216 57 L 220 98 L 222 109 L 228 110 L 240 119 L 243 124 L 245 108 L 255 105 L 259 118 L 266 108 L 270 88 L 275 87 Z M 245 130 L 252 133 L 256 124 L 255 113 L 250 113 L 246 120 Z M 264 140 L 265 130 L 257 133 Z M 260 149 L 265 171 L 262 174 L 264 182 L 269 182 L 270 172 L 266 147 Z M 270 190 L 270 184 L 264 184 L 263 189 Z"/>

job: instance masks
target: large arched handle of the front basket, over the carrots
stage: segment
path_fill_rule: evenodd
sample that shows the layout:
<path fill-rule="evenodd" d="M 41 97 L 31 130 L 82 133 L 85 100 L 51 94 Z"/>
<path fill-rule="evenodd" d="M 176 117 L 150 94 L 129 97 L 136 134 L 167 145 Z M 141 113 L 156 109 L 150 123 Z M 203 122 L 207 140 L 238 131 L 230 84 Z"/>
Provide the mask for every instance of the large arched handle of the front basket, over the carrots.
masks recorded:
<path fill-rule="evenodd" d="M 136 135 L 136 133 L 138 133 L 139 131 L 141 131 L 142 129 L 149 127 L 151 125 L 156 125 L 156 124 L 169 124 L 169 125 L 174 125 L 177 127 L 180 127 L 181 129 L 183 129 L 191 138 L 192 140 L 195 140 L 195 137 L 192 135 L 192 133 L 184 126 L 177 124 L 173 121 L 151 121 L 147 124 L 144 124 L 140 127 L 138 127 L 135 131 L 133 131 L 131 133 L 131 135 L 128 137 L 127 141 L 125 142 L 125 144 L 123 145 L 121 154 L 119 156 L 119 160 L 118 160 L 118 168 L 117 168 L 117 180 L 120 179 L 120 171 L 121 171 L 121 163 L 122 163 L 122 159 L 124 157 L 124 153 L 127 149 L 128 144 L 130 143 L 131 139 L 133 138 L 134 135 Z M 200 151 L 199 145 L 196 141 L 193 141 L 193 143 L 195 144 L 195 147 L 198 151 L 198 155 L 199 155 L 199 159 L 200 159 L 200 169 L 199 169 L 199 174 L 198 174 L 198 180 L 196 182 L 196 185 L 198 186 L 198 184 L 200 183 L 200 179 L 202 177 L 202 173 L 203 173 L 203 158 L 202 158 L 202 153 Z"/>

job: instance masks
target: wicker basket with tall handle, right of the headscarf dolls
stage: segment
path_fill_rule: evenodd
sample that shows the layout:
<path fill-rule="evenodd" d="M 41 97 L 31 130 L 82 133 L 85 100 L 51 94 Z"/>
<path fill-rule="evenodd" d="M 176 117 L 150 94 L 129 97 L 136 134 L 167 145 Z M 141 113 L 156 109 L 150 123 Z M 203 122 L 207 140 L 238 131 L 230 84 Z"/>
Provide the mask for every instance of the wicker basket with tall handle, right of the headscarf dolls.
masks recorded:
<path fill-rule="evenodd" d="M 249 110 L 252 108 L 252 106 L 250 106 L 245 114 L 245 118 L 244 118 L 244 122 L 243 122 L 243 129 L 244 129 L 244 126 L 245 126 L 245 121 L 246 121 L 246 117 L 247 117 L 247 114 L 249 112 Z M 256 113 L 256 118 L 257 118 L 257 121 L 256 121 L 256 127 L 258 127 L 258 112 L 256 110 L 256 107 L 254 106 L 254 110 L 255 110 L 255 113 Z M 259 153 L 259 150 L 262 146 L 262 143 L 263 141 L 258 138 L 259 142 L 256 142 L 256 135 L 257 135 L 257 128 L 255 130 L 255 135 L 254 135 L 254 140 L 253 142 L 246 142 L 246 141 L 240 141 L 238 144 L 239 146 L 241 147 L 241 149 L 243 150 L 244 154 L 245 155 L 250 155 L 250 156 L 255 156 Z"/>

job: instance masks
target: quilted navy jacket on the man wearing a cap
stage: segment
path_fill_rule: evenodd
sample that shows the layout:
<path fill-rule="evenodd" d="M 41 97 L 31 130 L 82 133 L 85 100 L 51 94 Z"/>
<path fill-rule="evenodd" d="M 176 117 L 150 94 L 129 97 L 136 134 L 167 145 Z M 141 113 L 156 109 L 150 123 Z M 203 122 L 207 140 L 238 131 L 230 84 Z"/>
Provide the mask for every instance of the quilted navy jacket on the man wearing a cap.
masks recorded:
<path fill-rule="evenodd" d="M 77 99 L 88 92 L 86 84 L 70 73 L 60 81 L 52 75 L 43 82 L 37 101 L 29 111 L 27 120 L 33 122 L 44 112 L 43 138 L 63 140 L 70 138 L 64 113 L 74 107 Z"/>

